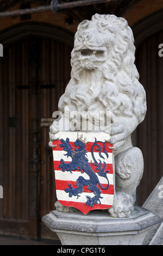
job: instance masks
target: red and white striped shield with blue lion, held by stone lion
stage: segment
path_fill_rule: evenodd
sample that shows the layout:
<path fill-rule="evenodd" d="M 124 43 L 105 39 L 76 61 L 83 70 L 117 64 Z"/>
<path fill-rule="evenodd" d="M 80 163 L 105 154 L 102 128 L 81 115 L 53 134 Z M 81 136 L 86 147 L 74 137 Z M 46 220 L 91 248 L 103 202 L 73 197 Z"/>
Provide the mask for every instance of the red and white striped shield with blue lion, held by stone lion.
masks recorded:
<path fill-rule="evenodd" d="M 53 141 L 57 199 L 64 206 L 109 209 L 114 202 L 114 157 L 104 132 L 58 132 Z"/>

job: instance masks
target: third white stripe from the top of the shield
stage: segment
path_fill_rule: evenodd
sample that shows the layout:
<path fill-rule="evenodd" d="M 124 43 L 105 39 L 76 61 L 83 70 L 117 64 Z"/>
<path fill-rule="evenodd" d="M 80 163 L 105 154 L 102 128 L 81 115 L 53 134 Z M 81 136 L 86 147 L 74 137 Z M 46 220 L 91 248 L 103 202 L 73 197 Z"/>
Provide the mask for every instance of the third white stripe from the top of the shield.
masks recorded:
<path fill-rule="evenodd" d="M 101 184 L 108 184 L 108 181 L 104 178 L 99 176 L 96 173 L 99 182 L 101 182 Z M 107 173 L 106 174 L 109 180 L 109 184 L 114 184 L 114 176 L 111 173 Z M 62 170 L 55 170 L 55 180 L 71 180 L 71 181 L 77 181 L 77 179 L 79 178 L 79 176 L 83 176 L 83 178 L 85 179 L 90 179 L 89 175 L 87 175 L 86 173 L 81 173 L 81 172 L 62 172 Z"/>

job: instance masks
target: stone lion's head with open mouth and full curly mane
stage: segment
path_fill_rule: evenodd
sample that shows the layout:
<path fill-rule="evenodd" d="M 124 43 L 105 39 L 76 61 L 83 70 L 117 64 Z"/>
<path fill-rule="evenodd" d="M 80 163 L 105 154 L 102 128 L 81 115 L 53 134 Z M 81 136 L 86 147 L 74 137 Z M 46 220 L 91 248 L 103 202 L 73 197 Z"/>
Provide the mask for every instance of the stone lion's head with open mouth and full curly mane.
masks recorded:
<path fill-rule="evenodd" d="M 92 16 L 78 26 L 71 53 L 71 80 L 59 110 L 106 111 L 132 117 L 146 113 L 145 90 L 139 83 L 133 32 L 122 17 Z"/>

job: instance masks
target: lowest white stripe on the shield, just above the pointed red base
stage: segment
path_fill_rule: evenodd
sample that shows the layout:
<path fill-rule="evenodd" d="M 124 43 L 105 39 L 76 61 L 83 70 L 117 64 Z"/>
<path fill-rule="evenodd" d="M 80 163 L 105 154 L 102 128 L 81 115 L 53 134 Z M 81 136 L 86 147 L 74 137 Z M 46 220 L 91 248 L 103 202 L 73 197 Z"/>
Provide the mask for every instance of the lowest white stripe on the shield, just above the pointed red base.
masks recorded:
<path fill-rule="evenodd" d="M 57 190 L 57 199 L 58 200 L 65 200 L 65 201 L 71 201 L 71 202 L 78 202 L 78 203 L 85 203 L 87 201 L 86 196 L 94 197 L 95 194 L 93 193 L 86 193 L 83 192 L 80 194 L 80 197 L 77 198 L 77 196 L 69 197 L 68 193 L 66 193 L 64 190 Z M 108 204 L 112 205 L 114 202 L 114 194 L 101 194 L 100 202 L 101 204 Z"/>

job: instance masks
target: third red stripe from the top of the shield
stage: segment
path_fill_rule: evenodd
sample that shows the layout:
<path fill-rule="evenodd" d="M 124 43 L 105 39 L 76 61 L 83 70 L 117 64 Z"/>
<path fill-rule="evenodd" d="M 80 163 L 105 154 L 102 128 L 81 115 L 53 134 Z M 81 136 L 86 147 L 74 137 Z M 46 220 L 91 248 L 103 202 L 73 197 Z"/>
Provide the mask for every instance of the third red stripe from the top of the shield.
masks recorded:
<path fill-rule="evenodd" d="M 71 184 L 73 188 L 76 188 L 76 181 L 68 181 L 68 180 L 55 180 L 55 186 L 56 186 L 56 190 L 65 190 L 65 188 L 68 187 L 68 184 Z M 102 184 L 103 187 L 106 187 L 107 184 Z M 97 187 L 99 187 L 101 189 L 101 192 L 103 194 L 114 194 L 114 185 L 110 184 L 109 188 L 107 190 L 103 190 L 99 184 L 97 184 Z M 84 192 L 87 193 L 93 193 L 91 190 L 89 190 L 87 188 L 87 186 L 84 186 Z"/>

